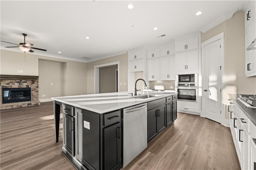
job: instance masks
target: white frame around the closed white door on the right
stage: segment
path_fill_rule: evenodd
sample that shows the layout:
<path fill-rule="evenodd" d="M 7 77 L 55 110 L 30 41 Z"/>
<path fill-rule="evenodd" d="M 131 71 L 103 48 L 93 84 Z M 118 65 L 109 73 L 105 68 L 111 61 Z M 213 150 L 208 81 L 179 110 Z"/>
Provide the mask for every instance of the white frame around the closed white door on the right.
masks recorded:
<path fill-rule="evenodd" d="M 221 111 L 221 116 L 220 116 L 220 123 L 224 126 L 228 126 L 228 120 L 225 119 L 225 94 L 224 94 L 224 88 L 226 87 L 226 79 L 225 79 L 225 67 L 224 67 L 224 32 L 206 40 L 205 42 L 201 43 L 201 49 L 202 49 L 202 80 L 204 80 L 206 78 L 206 71 L 204 71 L 204 69 L 206 69 L 206 67 L 204 66 L 204 46 L 216 42 L 218 40 L 220 41 L 220 45 L 222 46 L 221 48 L 221 69 L 223 69 L 222 72 L 222 81 L 220 82 L 220 88 L 222 89 L 222 91 L 220 92 L 220 111 Z M 205 81 L 202 81 L 202 90 L 206 88 L 206 84 Z M 205 93 L 202 92 L 202 113 L 201 113 L 201 117 L 205 117 Z"/>

